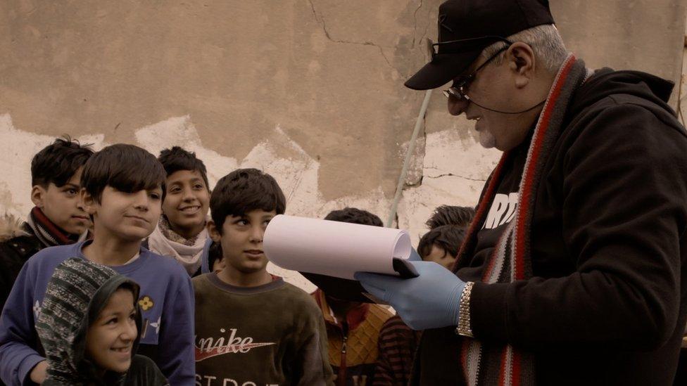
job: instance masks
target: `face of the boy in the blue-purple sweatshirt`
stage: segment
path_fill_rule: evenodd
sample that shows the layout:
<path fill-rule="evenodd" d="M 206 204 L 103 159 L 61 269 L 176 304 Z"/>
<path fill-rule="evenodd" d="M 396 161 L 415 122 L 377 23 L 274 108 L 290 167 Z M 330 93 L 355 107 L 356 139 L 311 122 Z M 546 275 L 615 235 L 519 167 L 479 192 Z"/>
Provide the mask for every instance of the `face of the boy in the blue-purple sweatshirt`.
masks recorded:
<path fill-rule="evenodd" d="M 127 193 L 106 186 L 100 202 L 96 202 L 85 191 L 82 195 L 87 212 L 94 216 L 96 237 L 140 241 L 150 236 L 162 213 L 160 187 Z"/>

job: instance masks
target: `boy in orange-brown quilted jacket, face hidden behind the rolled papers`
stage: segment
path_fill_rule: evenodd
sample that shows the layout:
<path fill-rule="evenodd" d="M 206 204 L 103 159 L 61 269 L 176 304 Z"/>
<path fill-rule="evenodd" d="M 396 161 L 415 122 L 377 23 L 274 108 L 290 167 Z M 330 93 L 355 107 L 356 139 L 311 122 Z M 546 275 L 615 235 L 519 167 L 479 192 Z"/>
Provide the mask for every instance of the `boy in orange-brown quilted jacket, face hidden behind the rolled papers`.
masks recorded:
<path fill-rule="evenodd" d="M 329 212 L 325 220 L 384 226 L 376 215 L 354 207 Z M 336 385 L 365 385 L 374 378 L 379 330 L 393 314 L 378 304 L 336 299 L 318 289 L 312 295 L 322 310 L 329 340 L 329 364 Z"/>

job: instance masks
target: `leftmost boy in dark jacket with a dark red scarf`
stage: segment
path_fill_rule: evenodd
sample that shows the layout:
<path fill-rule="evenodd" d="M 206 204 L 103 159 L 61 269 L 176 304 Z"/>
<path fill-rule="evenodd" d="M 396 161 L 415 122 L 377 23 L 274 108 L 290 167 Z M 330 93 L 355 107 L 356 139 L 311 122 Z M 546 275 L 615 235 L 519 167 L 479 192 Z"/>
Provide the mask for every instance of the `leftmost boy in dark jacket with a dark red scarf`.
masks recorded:
<path fill-rule="evenodd" d="M 0 217 L 0 309 L 24 263 L 53 245 L 67 245 L 87 236 L 89 217 L 81 205 L 81 172 L 93 154 L 69 137 L 56 139 L 31 161 L 31 200 L 26 222 Z"/>

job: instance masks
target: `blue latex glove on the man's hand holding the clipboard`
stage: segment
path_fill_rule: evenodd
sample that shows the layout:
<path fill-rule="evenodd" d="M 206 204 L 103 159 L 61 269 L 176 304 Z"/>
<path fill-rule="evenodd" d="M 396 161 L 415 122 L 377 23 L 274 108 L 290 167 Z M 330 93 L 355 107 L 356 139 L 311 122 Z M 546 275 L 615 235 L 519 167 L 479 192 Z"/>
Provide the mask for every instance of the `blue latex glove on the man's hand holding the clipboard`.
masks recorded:
<path fill-rule="evenodd" d="M 435 262 L 410 262 L 417 278 L 355 273 L 367 292 L 388 302 L 413 330 L 456 326 L 465 282 Z"/>

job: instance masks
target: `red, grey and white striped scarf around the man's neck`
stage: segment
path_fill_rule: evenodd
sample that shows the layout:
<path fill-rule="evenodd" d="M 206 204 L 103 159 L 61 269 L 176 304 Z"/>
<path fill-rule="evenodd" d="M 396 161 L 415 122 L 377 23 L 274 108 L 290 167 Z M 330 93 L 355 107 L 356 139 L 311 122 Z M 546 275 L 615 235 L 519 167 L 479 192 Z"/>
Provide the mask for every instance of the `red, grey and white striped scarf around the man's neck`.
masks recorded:
<path fill-rule="evenodd" d="M 586 68 L 581 60 L 570 54 L 560 67 L 553 86 L 546 98 L 541 115 L 534 129 L 534 135 L 527 153 L 527 160 L 519 186 L 519 200 L 515 218 L 496 243 L 494 252 L 484 269 L 484 283 L 511 283 L 527 280 L 532 276 L 529 255 L 530 228 L 536 189 L 541 181 L 543 167 L 550 150 L 564 128 L 562 126 L 568 103 L 574 91 L 586 79 Z M 479 200 L 477 214 L 470 224 L 465 241 L 458 252 L 453 271 L 469 264 L 474 253 L 477 232 L 484 223 L 489 204 L 496 194 L 496 188 L 503 176 L 504 165 L 511 157 L 503 153 L 494 169 L 486 190 Z M 510 345 L 493 345 L 463 337 L 460 361 L 467 385 L 534 385 L 534 357 Z"/>

